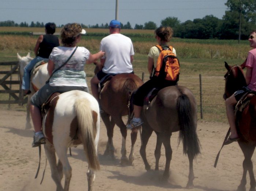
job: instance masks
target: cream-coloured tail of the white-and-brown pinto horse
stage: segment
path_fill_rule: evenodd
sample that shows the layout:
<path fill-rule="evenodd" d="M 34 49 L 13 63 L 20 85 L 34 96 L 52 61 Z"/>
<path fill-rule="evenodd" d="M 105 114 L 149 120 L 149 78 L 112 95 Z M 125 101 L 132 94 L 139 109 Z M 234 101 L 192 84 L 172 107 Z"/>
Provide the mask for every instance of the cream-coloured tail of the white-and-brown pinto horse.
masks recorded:
<path fill-rule="evenodd" d="M 87 99 L 76 100 L 75 110 L 77 113 L 78 132 L 81 133 L 89 168 L 99 170 L 100 163 L 98 160 L 97 149 L 94 144 L 97 129 L 97 113 L 92 110 Z"/>

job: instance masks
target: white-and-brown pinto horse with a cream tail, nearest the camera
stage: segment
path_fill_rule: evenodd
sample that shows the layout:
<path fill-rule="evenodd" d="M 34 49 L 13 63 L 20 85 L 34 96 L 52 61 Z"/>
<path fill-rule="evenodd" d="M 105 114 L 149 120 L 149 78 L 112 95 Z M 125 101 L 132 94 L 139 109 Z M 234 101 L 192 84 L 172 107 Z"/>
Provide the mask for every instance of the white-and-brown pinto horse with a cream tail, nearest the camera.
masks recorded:
<path fill-rule="evenodd" d="M 71 167 L 67 148 L 82 144 L 88 161 L 88 190 L 92 190 L 95 172 L 100 168 L 97 157 L 100 113 L 96 99 L 84 91 L 73 90 L 54 97 L 43 117 L 46 137 L 45 153 L 57 191 L 63 191 L 61 179 L 65 175 L 64 191 L 69 190 Z M 56 156 L 59 158 L 56 164 Z"/>

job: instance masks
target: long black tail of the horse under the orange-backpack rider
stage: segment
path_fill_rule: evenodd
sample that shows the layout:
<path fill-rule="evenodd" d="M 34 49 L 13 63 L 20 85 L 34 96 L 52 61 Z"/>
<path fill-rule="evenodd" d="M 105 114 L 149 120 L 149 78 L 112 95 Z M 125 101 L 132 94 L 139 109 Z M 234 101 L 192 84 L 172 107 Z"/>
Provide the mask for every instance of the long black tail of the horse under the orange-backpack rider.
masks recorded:
<path fill-rule="evenodd" d="M 179 143 L 183 140 L 183 153 L 197 156 L 200 154 L 200 143 L 196 133 L 196 126 L 192 114 L 191 103 L 186 94 L 181 94 L 177 99 L 179 118 Z"/>

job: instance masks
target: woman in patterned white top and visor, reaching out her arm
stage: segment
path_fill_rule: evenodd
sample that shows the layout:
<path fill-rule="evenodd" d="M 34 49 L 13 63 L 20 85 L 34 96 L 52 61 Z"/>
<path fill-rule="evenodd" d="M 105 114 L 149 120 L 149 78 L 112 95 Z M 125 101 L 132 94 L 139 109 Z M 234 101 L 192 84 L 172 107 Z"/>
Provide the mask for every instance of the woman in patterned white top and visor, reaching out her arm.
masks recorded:
<path fill-rule="evenodd" d="M 80 24 L 66 24 L 61 31 L 63 46 L 53 48 L 49 56 L 47 70 L 49 75 L 59 68 L 70 57 L 75 50 L 77 43 L 81 40 L 81 34 L 85 34 Z M 32 147 L 37 147 L 40 142 L 44 141 L 44 134 L 41 131 L 41 106 L 55 92 L 64 93 L 71 90 L 81 90 L 89 92 L 86 83 L 86 74 L 84 65 L 92 63 L 101 58 L 104 52 L 90 54 L 85 47 L 77 47 L 74 55 L 59 70 L 53 73 L 49 83 L 45 84 L 38 90 L 30 100 L 30 114 L 34 125 L 34 140 Z"/>

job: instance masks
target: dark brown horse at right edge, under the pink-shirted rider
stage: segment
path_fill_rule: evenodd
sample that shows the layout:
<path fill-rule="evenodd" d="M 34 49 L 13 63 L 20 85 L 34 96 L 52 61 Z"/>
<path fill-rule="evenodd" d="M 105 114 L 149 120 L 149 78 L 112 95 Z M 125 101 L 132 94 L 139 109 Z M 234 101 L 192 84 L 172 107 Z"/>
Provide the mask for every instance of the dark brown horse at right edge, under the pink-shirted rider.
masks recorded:
<path fill-rule="evenodd" d="M 229 66 L 225 62 L 225 67 L 227 73 L 224 76 L 226 81 L 224 98 L 226 99 L 236 90 L 246 86 L 246 81 L 242 70 L 244 63 L 241 66 Z M 246 174 L 248 171 L 251 180 L 250 191 L 255 191 L 256 182 L 251 158 L 256 146 L 256 96 L 251 99 L 249 105 L 242 112 L 241 117 L 238 119 L 238 124 L 237 132 L 240 137 L 238 144 L 244 153 L 245 159 L 243 162 L 244 172 L 237 190 L 246 190 Z"/>

